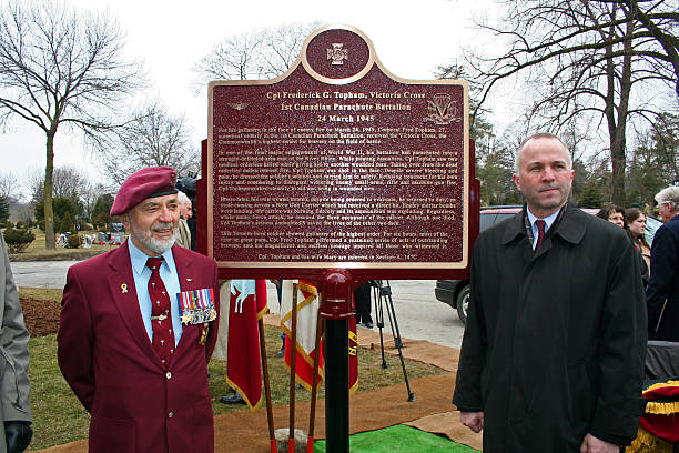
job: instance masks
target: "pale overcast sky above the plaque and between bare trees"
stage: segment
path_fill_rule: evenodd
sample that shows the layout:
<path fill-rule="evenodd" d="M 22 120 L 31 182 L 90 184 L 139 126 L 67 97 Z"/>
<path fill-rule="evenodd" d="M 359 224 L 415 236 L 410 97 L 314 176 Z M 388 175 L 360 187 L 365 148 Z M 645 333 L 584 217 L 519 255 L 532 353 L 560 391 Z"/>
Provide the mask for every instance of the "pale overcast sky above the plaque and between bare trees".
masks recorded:
<path fill-rule="evenodd" d="M 349 24 L 373 41 L 377 57 L 394 74 L 433 79 L 437 66 L 462 56 L 465 42 L 479 43 L 470 18 L 484 13 L 491 0 L 68 0 L 68 4 L 108 9 L 118 19 L 128 53 L 145 61 L 148 97 L 159 98 L 172 114 L 185 115 L 199 147 L 207 137 L 207 94 L 194 94 L 191 68 L 224 37 L 288 22 Z M 93 157 L 77 137 L 64 132 L 57 134 L 55 165 L 77 165 L 93 180 L 101 179 Z M 31 169 L 42 170 L 44 140 L 36 125 L 12 121 L 9 130 L 0 132 L 2 170 L 20 179 Z"/>

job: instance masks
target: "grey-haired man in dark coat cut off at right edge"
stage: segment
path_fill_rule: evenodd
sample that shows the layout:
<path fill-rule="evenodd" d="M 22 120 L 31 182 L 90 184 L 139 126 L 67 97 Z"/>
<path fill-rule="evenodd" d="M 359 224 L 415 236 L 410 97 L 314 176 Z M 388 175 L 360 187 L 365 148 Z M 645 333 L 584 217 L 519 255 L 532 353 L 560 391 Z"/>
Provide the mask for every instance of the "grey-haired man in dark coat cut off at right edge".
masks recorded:
<path fill-rule="evenodd" d="M 651 244 L 651 276 L 646 289 L 648 332 L 652 340 L 679 342 L 679 188 L 656 194 L 665 222 Z"/>

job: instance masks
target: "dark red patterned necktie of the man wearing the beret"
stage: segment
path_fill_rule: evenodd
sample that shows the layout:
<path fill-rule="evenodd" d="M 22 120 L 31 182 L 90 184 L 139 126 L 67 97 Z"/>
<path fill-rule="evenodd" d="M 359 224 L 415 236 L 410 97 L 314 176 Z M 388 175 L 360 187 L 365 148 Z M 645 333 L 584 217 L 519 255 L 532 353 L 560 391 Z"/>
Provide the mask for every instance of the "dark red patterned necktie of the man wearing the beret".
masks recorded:
<path fill-rule="evenodd" d="M 174 333 L 172 332 L 172 316 L 170 315 L 170 295 L 160 276 L 162 256 L 149 258 L 146 265 L 151 269 L 149 279 L 149 296 L 151 298 L 151 326 L 153 329 L 153 349 L 165 366 L 174 353 Z"/>

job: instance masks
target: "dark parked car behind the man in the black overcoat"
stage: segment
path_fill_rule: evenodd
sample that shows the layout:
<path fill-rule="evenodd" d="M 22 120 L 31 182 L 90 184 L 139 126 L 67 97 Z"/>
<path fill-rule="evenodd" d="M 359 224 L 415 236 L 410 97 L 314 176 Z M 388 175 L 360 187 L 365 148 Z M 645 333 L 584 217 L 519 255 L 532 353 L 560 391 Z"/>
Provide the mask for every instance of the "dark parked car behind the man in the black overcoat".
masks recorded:
<path fill-rule="evenodd" d="M 509 219 L 521 210 L 519 205 L 510 207 L 485 207 L 478 215 L 479 231 L 484 231 L 497 222 Z M 598 209 L 582 209 L 585 212 L 596 215 Z M 647 215 L 646 218 L 646 241 L 649 245 L 653 241 L 656 230 L 662 224 L 658 219 Z M 463 324 L 467 323 L 467 308 L 469 306 L 469 281 L 468 280 L 437 280 L 434 295 L 443 303 L 457 310 Z"/>

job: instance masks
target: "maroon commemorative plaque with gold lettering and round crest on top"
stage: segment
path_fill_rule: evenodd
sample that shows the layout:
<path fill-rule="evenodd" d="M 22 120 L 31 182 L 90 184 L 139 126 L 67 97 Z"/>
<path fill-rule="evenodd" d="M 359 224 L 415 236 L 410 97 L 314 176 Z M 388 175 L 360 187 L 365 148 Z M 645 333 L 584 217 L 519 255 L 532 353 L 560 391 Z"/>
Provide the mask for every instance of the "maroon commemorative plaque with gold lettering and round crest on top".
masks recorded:
<path fill-rule="evenodd" d="M 351 27 L 314 32 L 277 79 L 212 82 L 209 255 L 231 276 L 466 271 L 467 90 L 391 74 Z"/>

